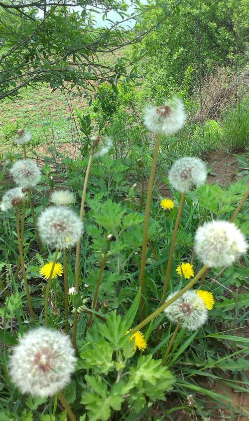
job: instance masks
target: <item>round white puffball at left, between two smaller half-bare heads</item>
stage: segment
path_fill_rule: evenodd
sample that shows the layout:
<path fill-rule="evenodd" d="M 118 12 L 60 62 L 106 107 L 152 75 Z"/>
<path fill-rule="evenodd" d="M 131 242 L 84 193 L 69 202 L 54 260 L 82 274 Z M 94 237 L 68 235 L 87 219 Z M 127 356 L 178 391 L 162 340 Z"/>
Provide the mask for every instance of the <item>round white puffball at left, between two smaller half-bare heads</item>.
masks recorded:
<path fill-rule="evenodd" d="M 9 172 L 18 186 L 26 188 L 34 187 L 41 180 L 41 170 L 35 162 L 29 159 L 16 161 Z"/>

